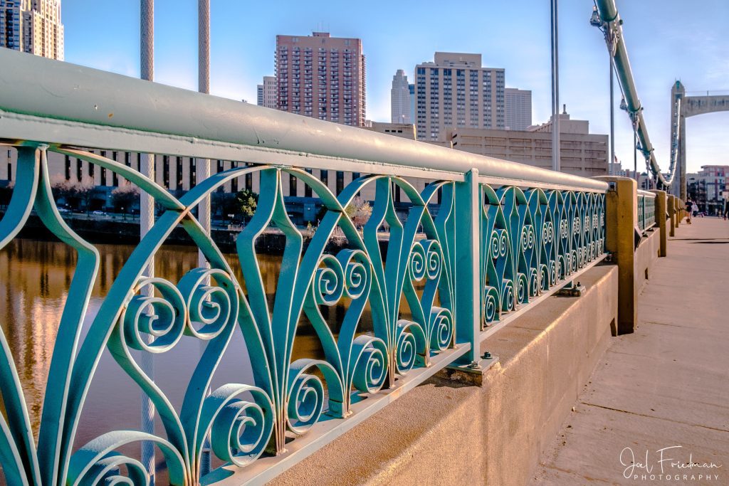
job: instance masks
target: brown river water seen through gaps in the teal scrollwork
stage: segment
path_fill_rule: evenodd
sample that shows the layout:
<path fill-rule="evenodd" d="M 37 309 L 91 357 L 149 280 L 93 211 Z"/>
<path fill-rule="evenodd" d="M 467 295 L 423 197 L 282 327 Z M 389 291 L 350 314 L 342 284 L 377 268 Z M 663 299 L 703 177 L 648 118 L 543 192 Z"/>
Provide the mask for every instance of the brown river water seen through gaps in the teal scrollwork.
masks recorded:
<path fill-rule="evenodd" d="M 134 248 L 130 245 L 96 247 L 101 253 L 101 261 L 89 312 L 82 326 L 82 339 Z M 233 254 L 226 257 L 236 278 L 242 282 L 237 257 Z M 0 250 L 0 326 L 15 359 L 36 438 L 53 345 L 76 261 L 75 251 L 63 243 L 15 239 Z M 184 273 L 196 267 L 197 262 L 197 248 L 164 246 L 155 256 L 155 272 L 176 283 Z M 280 256 L 262 255 L 260 264 L 271 303 Z M 335 334 L 345 311 L 343 303 L 323 310 Z M 365 310 L 360 326 L 361 332 L 372 329 L 368 310 Z M 321 344 L 310 324 L 300 323 L 293 354 L 292 360 L 321 357 Z M 183 337 L 173 350 L 155 356 L 155 380 L 177 410 L 199 356 L 200 342 L 192 337 Z M 248 359 L 241 333 L 236 332 L 214 376 L 213 387 L 224 383 L 252 384 Z M 109 356 L 109 351 L 104 350 L 81 415 L 76 446 L 106 431 L 139 428 L 139 393 L 137 385 Z M 159 424 L 157 433 L 163 434 Z"/>

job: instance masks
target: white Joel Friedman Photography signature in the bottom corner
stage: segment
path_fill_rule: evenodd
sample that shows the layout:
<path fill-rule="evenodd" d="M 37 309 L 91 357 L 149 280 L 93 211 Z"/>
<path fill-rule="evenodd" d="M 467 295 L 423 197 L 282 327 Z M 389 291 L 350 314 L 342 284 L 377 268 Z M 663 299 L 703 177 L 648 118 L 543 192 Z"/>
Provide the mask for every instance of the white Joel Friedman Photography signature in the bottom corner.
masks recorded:
<path fill-rule="evenodd" d="M 620 464 L 625 466 L 623 477 L 625 479 L 650 479 L 651 481 L 656 479 L 659 481 L 719 479 L 716 469 L 720 469 L 721 464 L 693 460 L 693 453 L 689 453 L 688 460 L 685 460 L 685 453 L 682 454 L 683 451 L 679 451 L 682 448 L 681 445 L 672 445 L 653 453 L 646 449 L 645 455 L 636 456 L 631 447 L 625 447 L 620 451 Z"/>

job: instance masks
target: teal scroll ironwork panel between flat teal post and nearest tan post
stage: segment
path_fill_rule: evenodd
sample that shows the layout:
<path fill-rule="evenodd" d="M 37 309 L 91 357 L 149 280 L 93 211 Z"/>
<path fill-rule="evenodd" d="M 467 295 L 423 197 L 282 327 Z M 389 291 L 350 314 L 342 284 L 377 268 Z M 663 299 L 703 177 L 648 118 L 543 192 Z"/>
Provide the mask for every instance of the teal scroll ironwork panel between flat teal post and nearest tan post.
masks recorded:
<path fill-rule="evenodd" d="M 482 189 L 482 326 L 604 254 L 604 194 Z"/>

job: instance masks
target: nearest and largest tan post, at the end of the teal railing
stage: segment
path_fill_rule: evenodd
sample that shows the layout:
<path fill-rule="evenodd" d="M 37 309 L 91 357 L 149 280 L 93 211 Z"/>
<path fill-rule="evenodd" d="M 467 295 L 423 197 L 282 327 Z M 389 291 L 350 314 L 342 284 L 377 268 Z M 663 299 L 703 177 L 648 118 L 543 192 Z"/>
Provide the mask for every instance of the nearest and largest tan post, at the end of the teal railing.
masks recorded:
<path fill-rule="evenodd" d="M 637 325 L 635 284 L 635 234 L 638 223 L 638 184 L 628 177 L 601 176 L 610 183 L 605 198 L 605 248 L 617 263 L 617 329 L 630 334 Z"/>

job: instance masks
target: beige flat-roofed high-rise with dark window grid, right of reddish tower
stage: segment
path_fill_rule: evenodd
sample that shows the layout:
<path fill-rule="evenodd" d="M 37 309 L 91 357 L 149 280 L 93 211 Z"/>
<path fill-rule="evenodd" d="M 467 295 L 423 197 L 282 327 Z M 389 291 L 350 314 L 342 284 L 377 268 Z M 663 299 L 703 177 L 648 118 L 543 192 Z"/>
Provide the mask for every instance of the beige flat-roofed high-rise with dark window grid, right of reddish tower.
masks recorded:
<path fill-rule="evenodd" d="M 449 127 L 503 130 L 504 69 L 483 68 L 480 54 L 436 52 L 416 66 L 418 140 L 443 140 Z"/>

